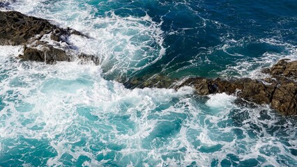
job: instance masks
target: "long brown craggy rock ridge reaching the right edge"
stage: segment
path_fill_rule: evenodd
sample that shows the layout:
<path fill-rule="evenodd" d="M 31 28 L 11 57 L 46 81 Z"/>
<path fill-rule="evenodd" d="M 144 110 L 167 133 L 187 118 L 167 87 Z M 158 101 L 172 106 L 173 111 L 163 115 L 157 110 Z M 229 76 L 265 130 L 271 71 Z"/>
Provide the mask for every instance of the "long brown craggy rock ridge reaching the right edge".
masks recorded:
<path fill-rule="evenodd" d="M 284 115 L 297 115 L 297 61 L 281 60 L 271 69 L 266 69 L 270 78 L 222 80 L 189 78 L 182 86 L 193 86 L 199 95 L 227 93 L 257 104 L 271 104 L 273 109 Z"/>

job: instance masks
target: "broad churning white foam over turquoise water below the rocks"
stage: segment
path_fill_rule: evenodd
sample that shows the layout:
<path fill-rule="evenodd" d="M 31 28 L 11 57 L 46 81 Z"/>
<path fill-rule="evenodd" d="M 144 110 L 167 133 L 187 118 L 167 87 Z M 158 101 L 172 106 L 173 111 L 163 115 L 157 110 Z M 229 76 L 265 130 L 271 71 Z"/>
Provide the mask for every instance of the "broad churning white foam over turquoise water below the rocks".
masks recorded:
<path fill-rule="evenodd" d="M 227 154 L 241 161 L 261 155 L 267 160 L 263 164 L 278 166 L 264 154 L 274 147 L 294 159 L 287 153 L 296 146 L 294 123 L 277 125 L 280 118 L 271 111 L 266 119 L 260 118 L 259 111 L 266 107 L 240 108 L 232 104 L 235 97 L 222 93 L 209 96 L 208 114 L 205 104 L 192 98 L 190 87 L 128 90 L 102 79 L 100 66 L 15 61 L 11 57 L 20 47 L 5 48 L 15 55 L 0 56 L 0 74 L 7 74 L 0 88 L 5 104 L 0 112 L 1 154 L 9 152 L 3 148 L 4 139 L 23 136 L 49 142 L 56 155 L 48 159 L 48 166 L 63 166 L 65 154 L 73 161 L 89 157 L 85 163 L 91 166 L 106 165 L 107 159 L 97 157 L 109 154 L 116 154 L 109 161 L 119 166 L 187 166 L 192 161 L 208 166 L 213 159 L 227 159 Z M 238 111 L 231 114 L 234 109 Z M 236 122 L 241 125 L 232 125 Z M 273 128 L 291 134 L 284 136 L 289 146 L 269 132 Z M 209 149 L 213 151 L 204 152 Z"/>

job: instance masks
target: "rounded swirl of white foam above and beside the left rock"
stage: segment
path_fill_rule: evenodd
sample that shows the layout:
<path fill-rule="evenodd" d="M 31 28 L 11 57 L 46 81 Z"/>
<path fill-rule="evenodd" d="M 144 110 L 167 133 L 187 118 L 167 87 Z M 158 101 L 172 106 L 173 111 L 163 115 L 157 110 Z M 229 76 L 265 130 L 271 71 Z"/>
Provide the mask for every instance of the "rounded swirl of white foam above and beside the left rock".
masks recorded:
<path fill-rule="evenodd" d="M 153 22 L 148 15 L 120 17 L 110 10 L 105 16 L 96 16 L 97 8 L 75 0 L 22 0 L 13 8 L 89 35 L 91 39 L 71 35 L 68 40 L 78 51 L 98 56 L 102 69 L 110 76 L 134 75 L 165 54 L 162 22 Z"/>

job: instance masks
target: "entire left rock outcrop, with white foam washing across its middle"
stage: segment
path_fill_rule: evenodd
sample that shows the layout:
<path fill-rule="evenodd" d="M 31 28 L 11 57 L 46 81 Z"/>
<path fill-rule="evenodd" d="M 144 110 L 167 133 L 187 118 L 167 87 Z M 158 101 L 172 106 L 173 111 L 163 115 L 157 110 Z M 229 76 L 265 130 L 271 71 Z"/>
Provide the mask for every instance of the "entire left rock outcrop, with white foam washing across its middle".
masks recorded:
<path fill-rule="evenodd" d="M 96 56 L 79 54 L 70 42 L 70 35 L 86 35 L 74 29 L 63 29 L 46 19 L 23 15 L 16 11 L 0 11 L 0 45 L 24 45 L 20 58 L 55 63 L 56 61 L 93 61 Z"/>

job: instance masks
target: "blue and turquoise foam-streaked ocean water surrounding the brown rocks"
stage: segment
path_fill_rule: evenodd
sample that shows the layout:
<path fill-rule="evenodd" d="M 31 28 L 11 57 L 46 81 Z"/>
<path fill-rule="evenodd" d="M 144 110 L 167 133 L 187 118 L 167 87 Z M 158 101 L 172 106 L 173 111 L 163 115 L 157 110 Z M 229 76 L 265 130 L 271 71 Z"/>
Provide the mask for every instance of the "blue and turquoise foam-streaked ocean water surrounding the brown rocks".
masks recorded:
<path fill-rule="evenodd" d="M 100 65 L 0 46 L 0 166 L 297 166 L 296 116 L 134 77 L 250 77 L 297 59 L 297 2 L 20 0 Z"/>

